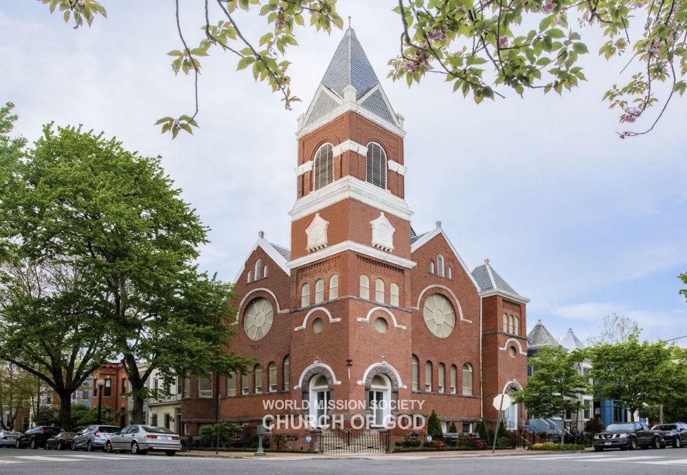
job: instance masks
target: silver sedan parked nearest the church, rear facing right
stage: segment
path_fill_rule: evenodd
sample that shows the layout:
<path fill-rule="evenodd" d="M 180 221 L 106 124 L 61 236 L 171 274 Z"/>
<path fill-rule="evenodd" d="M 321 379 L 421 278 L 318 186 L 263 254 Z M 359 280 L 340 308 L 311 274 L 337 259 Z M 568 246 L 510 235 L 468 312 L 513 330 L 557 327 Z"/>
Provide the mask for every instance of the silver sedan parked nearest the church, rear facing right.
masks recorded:
<path fill-rule="evenodd" d="M 105 452 L 126 452 L 146 454 L 148 451 L 165 452 L 174 455 L 181 450 L 181 437 L 169 429 L 158 426 L 126 426 L 105 443 Z"/>

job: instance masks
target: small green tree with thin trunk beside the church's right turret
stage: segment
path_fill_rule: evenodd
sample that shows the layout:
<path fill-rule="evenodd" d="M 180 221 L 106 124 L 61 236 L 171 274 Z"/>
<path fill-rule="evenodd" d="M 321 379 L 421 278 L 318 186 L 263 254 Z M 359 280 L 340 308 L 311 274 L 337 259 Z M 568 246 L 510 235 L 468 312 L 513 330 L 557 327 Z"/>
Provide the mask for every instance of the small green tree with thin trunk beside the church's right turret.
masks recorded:
<path fill-rule="evenodd" d="M 561 417 L 561 443 L 565 413 L 579 410 L 578 395 L 589 391 L 587 377 L 579 371 L 584 359 L 580 351 L 568 353 L 562 346 L 543 346 L 530 357 L 528 364 L 535 369 L 527 386 L 515 393 L 515 401 L 524 404 L 532 417 Z"/>

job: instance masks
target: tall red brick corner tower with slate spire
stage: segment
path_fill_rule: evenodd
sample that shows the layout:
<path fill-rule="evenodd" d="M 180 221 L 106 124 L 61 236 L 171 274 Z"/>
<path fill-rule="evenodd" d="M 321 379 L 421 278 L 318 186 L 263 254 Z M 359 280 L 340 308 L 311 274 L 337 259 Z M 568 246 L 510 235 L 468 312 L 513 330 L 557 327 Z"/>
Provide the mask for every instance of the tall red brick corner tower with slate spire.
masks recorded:
<path fill-rule="evenodd" d="M 332 368 L 335 399 L 365 400 L 372 377 L 384 371 L 375 381 L 397 398 L 411 377 L 415 263 L 404 137 L 403 116 L 349 27 L 298 118 L 297 199 L 289 212 L 292 344 L 304 348 L 304 361 L 294 364 Z M 305 392 L 308 382 L 301 384 Z"/>

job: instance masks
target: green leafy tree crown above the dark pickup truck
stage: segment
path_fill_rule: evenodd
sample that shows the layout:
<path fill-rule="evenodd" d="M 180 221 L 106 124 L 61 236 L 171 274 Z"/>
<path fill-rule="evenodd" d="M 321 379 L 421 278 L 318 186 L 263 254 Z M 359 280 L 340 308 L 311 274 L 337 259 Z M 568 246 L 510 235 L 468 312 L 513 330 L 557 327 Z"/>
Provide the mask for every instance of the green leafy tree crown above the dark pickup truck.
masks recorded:
<path fill-rule="evenodd" d="M 631 413 L 644 404 L 660 404 L 664 385 L 671 381 L 675 364 L 665 342 L 639 342 L 637 335 L 616 344 L 587 348 L 592 360 L 596 399 L 611 399 Z"/>

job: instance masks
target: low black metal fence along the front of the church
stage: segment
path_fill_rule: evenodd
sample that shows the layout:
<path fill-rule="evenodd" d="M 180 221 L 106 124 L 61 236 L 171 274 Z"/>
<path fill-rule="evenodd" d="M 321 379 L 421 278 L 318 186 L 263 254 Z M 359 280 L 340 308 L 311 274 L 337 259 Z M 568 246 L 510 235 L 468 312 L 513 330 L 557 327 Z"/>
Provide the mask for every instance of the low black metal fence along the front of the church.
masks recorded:
<path fill-rule="evenodd" d="M 490 434 L 491 436 L 491 434 Z M 219 450 L 255 452 L 260 436 L 256 428 L 243 428 L 221 440 Z M 201 437 L 182 437 L 186 449 L 208 450 L 215 448 L 214 440 Z M 529 448 L 541 442 L 534 432 L 508 431 L 498 437 L 498 450 Z M 324 454 L 375 454 L 390 452 L 426 452 L 444 450 L 491 450 L 493 439 L 479 434 L 458 432 L 429 437 L 426 432 L 392 432 L 389 430 L 328 430 L 264 434 L 262 448 L 266 452 L 311 452 Z"/>

